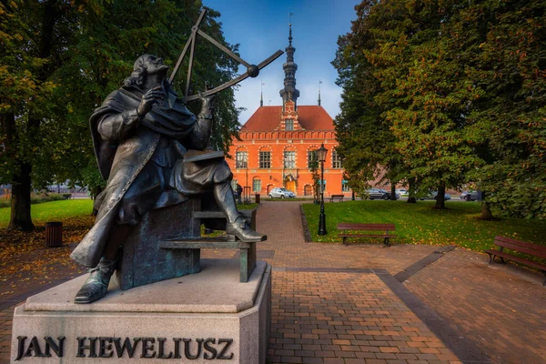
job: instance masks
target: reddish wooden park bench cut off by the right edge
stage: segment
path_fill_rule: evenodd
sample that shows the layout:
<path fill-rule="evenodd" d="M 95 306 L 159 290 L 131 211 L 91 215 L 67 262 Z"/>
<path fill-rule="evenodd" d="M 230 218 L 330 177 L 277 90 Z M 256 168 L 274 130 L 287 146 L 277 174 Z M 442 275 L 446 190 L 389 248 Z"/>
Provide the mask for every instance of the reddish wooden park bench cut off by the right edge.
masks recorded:
<path fill-rule="evenodd" d="M 506 258 L 521 264 L 525 264 L 532 268 L 541 269 L 542 273 L 544 274 L 544 282 L 542 283 L 542 286 L 546 285 L 546 264 L 531 260 L 529 258 L 517 257 L 504 250 L 504 248 L 507 248 L 512 251 L 523 253 L 529 257 L 546 259 L 546 247 L 525 241 L 514 240 L 512 238 L 504 238 L 501 236 L 495 237 L 493 244 L 499 247 L 499 249 L 484 250 L 490 256 L 490 264 L 495 261 L 495 257 L 499 257 L 501 258 L 502 263 L 504 263 L 504 259 Z"/>

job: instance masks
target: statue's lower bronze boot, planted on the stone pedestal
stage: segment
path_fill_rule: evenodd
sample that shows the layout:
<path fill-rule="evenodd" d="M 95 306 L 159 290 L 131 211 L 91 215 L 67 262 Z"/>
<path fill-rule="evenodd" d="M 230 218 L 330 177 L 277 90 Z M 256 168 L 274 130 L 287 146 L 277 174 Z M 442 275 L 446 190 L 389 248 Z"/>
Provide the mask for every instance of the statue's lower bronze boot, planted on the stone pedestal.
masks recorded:
<path fill-rule="evenodd" d="M 110 278 L 115 270 L 116 260 L 100 259 L 96 268 L 90 270 L 91 274 L 86 279 L 86 283 L 76 293 L 74 303 L 91 303 L 105 297 Z"/>

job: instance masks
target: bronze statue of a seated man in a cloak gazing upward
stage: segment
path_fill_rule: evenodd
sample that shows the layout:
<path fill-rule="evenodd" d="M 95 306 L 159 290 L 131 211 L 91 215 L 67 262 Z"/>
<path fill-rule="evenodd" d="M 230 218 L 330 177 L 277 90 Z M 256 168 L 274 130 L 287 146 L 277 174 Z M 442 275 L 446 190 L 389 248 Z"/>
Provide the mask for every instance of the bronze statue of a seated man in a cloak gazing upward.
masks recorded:
<path fill-rule="evenodd" d="M 106 295 L 117 252 L 131 226 L 148 211 L 210 193 L 227 218 L 226 232 L 242 241 L 263 240 L 238 212 L 223 157 L 185 162 L 190 149 L 207 148 L 212 128 L 212 97 L 202 97 L 196 117 L 167 82 L 168 66 L 157 56 L 140 56 L 124 86 L 106 97 L 89 122 L 102 176 L 108 181 L 96 197 L 95 226 L 71 257 L 94 267 L 76 294 L 76 303 Z"/>

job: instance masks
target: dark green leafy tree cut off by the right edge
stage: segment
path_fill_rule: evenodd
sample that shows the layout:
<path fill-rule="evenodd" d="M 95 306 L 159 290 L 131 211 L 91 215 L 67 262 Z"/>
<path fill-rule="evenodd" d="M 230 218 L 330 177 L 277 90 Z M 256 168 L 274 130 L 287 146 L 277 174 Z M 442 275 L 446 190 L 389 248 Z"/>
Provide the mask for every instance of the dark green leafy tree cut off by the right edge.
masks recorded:
<path fill-rule="evenodd" d="M 471 76 L 488 163 L 470 178 L 504 214 L 546 218 L 546 4 L 487 0 L 464 15 L 484 34 Z"/>

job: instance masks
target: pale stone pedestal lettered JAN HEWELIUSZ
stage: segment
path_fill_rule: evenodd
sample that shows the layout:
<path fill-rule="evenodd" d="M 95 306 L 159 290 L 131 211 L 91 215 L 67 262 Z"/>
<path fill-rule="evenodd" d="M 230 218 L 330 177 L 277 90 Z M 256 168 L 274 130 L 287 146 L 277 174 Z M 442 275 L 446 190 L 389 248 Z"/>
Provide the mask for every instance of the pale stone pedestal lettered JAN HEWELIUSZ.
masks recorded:
<path fill-rule="evenodd" d="M 86 276 L 15 308 L 12 363 L 265 363 L 271 267 L 248 283 L 237 259 L 203 259 L 201 273 L 121 290 L 76 305 Z"/>

